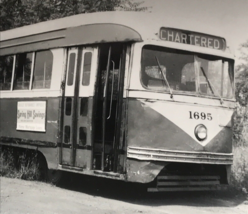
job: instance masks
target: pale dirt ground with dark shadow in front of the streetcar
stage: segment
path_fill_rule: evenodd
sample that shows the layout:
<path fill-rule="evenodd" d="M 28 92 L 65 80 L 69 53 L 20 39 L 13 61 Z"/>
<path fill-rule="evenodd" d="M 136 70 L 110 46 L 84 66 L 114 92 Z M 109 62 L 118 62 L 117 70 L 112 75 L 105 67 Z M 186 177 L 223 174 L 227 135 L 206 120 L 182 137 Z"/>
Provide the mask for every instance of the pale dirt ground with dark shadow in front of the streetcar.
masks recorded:
<path fill-rule="evenodd" d="M 121 183 L 111 185 L 100 179 L 69 186 L 0 177 L 0 213 L 248 214 L 244 197 L 231 192 L 137 194 L 133 187 L 126 191 L 128 186 L 118 188 Z"/>

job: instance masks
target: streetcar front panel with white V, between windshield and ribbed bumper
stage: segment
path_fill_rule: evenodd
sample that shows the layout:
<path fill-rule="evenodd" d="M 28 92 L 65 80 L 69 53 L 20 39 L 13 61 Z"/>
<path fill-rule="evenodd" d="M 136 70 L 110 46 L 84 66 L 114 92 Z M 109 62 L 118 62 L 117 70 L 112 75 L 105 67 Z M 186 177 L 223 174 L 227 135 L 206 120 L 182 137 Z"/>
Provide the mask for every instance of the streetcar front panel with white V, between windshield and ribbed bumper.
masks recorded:
<path fill-rule="evenodd" d="M 213 119 L 190 119 L 189 110 L 210 112 Z M 174 151 L 231 153 L 228 141 L 231 141 L 232 131 L 229 127 L 220 126 L 219 111 L 220 108 L 207 106 L 129 99 L 127 144 Z M 232 110 L 225 116 L 226 125 L 231 118 Z M 203 142 L 197 140 L 194 134 L 198 124 L 204 124 L 208 129 L 208 137 Z"/>

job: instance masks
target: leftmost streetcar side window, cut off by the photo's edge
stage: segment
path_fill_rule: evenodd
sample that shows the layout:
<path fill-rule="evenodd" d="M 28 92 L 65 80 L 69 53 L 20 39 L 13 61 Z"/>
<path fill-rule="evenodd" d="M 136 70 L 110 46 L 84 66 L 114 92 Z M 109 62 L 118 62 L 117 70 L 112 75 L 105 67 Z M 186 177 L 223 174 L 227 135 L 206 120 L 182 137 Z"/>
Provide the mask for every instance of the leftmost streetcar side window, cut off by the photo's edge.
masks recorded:
<path fill-rule="evenodd" d="M 13 56 L 0 57 L 0 90 L 2 91 L 11 89 L 13 62 Z"/>

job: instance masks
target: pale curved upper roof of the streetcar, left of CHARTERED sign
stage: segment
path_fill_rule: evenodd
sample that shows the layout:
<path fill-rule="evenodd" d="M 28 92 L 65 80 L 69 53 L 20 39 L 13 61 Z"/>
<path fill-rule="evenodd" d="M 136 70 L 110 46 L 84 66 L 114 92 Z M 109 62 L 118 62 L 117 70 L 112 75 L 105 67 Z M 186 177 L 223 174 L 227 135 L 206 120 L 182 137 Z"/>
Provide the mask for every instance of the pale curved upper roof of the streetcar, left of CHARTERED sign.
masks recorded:
<path fill-rule="evenodd" d="M 97 13 L 87 13 L 79 14 L 74 16 L 69 16 L 65 18 L 60 18 L 56 20 L 50 20 L 45 22 L 40 22 L 37 24 L 27 25 L 7 31 L 0 32 L 0 41 L 7 42 L 10 40 L 16 40 L 18 38 L 24 38 L 32 35 L 38 35 L 48 32 L 55 32 L 59 30 L 68 30 L 70 28 L 75 28 L 79 26 L 89 26 L 95 25 L 95 29 L 99 25 L 115 25 L 122 26 L 123 29 L 129 29 L 131 34 L 125 35 L 126 37 L 131 35 L 129 41 L 160 41 L 164 42 L 160 38 L 160 29 L 162 27 L 166 28 L 175 28 L 192 32 L 201 32 L 206 35 L 222 36 L 223 34 L 218 29 L 212 28 L 211 31 L 206 31 L 204 24 L 196 24 L 195 22 L 180 20 L 179 18 L 174 19 L 173 17 L 157 16 L 154 13 L 148 12 L 126 12 L 126 11 L 115 11 L 115 12 L 97 12 Z M 86 28 L 84 28 L 86 29 Z M 111 34 L 111 28 L 108 34 Z M 122 34 L 120 32 L 116 33 L 115 28 L 115 37 L 118 37 Z M 208 28 L 209 29 L 209 28 Z M 84 31 L 82 31 L 84 32 Z M 93 32 L 97 32 L 96 30 Z M 106 35 L 107 36 L 107 35 Z M 126 37 L 122 36 L 122 39 Z M 113 35 L 112 35 L 113 38 Z M 117 40 L 118 41 L 118 40 Z M 125 40 L 123 40 L 125 41 Z M 128 38 L 127 38 L 128 41 Z M 2 46 L 2 45 L 1 45 Z M 3 46 L 2 46 L 3 48 Z M 223 51 L 222 51 L 223 52 Z"/>

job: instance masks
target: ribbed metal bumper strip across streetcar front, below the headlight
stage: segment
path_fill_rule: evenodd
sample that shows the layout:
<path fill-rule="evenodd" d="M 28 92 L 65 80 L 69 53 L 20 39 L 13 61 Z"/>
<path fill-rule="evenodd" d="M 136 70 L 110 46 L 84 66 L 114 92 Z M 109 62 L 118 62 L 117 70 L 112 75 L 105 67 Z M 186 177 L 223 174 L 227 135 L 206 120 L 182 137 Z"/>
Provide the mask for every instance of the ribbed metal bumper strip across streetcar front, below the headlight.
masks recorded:
<path fill-rule="evenodd" d="M 128 147 L 127 157 L 148 160 L 203 164 L 232 164 L 233 154 L 211 152 L 188 152 L 153 148 Z"/>

